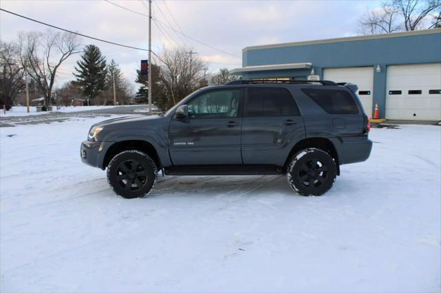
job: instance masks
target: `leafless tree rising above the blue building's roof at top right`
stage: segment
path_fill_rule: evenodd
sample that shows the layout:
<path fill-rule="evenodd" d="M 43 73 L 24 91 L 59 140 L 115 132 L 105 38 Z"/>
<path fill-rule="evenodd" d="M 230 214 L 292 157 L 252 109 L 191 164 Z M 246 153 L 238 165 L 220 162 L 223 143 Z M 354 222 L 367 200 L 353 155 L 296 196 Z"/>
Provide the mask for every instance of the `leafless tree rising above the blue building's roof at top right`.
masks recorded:
<path fill-rule="evenodd" d="M 423 28 L 426 17 L 440 9 L 440 3 L 440 0 L 389 0 L 381 8 L 368 10 L 360 19 L 358 30 L 362 34 L 418 30 Z"/>

